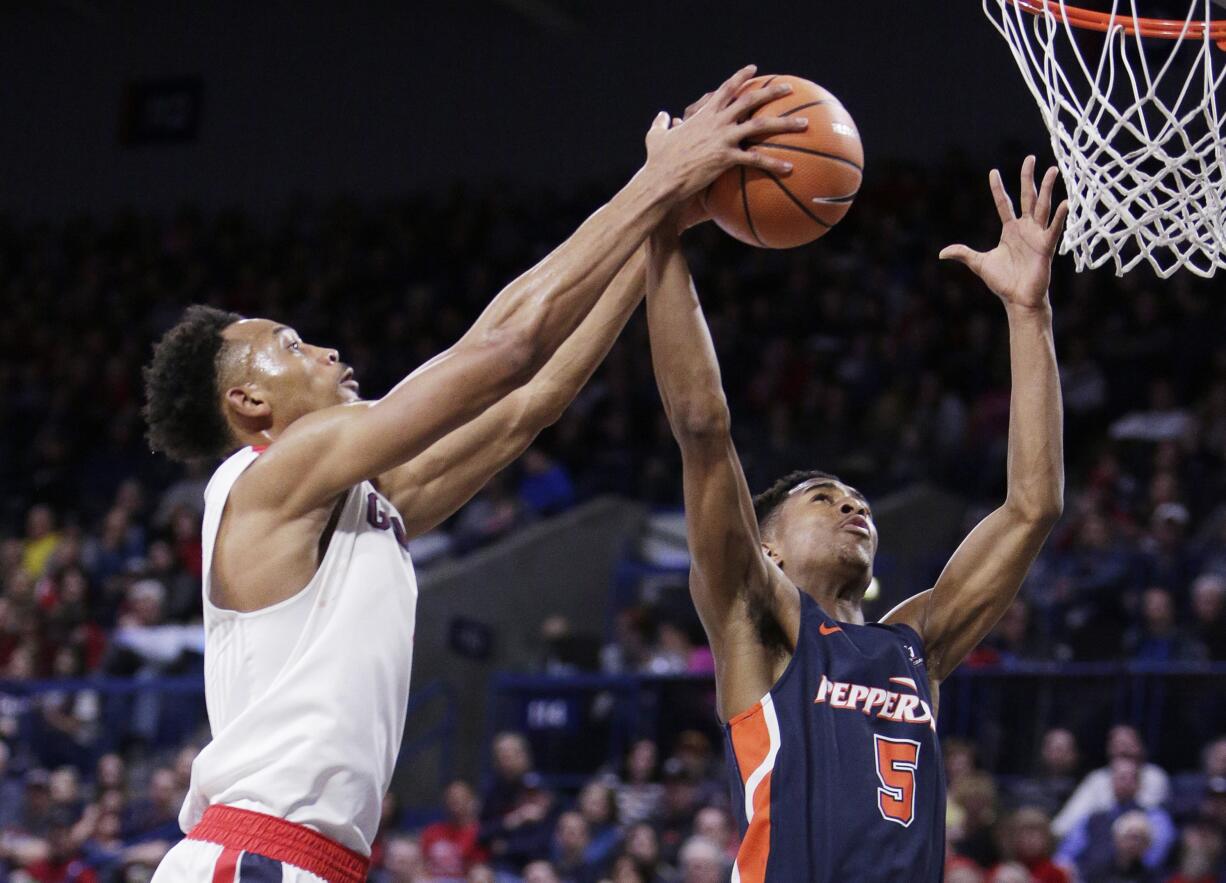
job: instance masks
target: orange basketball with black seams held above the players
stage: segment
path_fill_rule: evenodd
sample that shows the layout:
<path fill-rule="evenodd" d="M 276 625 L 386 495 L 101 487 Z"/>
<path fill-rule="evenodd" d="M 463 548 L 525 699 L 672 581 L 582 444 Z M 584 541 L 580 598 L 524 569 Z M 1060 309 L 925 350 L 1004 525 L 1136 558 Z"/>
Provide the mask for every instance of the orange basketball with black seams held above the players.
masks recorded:
<path fill-rule="evenodd" d="M 706 191 L 715 222 L 743 243 L 760 248 L 794 248 L 834 227 L 851 208 L 864 170 L 859 131 L 839 99 L 801 77 L 756 76 L 741 91 L 788 82 L 792 93 L 763 104 L 763 114 L 809 120 L 804 131 L 771 135 L 750 150 L 770 151 L 792 163 L 792 173 L 738 166 L 720 175 Z"/>

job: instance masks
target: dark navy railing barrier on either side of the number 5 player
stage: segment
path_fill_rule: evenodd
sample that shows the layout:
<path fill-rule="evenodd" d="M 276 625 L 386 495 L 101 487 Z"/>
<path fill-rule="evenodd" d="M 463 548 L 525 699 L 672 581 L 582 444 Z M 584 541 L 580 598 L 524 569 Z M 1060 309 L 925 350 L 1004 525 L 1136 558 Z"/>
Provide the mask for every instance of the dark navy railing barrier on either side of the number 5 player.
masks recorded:
<path fill-rule="evenodd" d="M 814 684 L 814 690 L 817 684 Z M 490 731 L 528 736 L 538 771 L 573 789 L 598 769 L 617 771 L 638 738 L 666 755 L 684 730 L 722 752 L 710 676 L 497 676 Z M 1150 757 L 1171 770 L 1199 762 L 1199 748 L 1226 733 L 1226 663 L 1026 662 L 964 667 L 940 687 L 943 738 L 973 743 L 980 763 L 1003 775 L 1032 769 L 1051 727 L 1072 730 L 1090 763 L 1106 732 L 1132 724 Z"/>

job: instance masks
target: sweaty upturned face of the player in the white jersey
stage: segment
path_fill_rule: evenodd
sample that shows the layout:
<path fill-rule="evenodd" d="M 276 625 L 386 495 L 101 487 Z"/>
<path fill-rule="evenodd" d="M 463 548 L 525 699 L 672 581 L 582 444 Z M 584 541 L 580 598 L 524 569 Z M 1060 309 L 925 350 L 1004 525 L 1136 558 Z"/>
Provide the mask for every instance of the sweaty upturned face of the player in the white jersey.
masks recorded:
<path fill-rule="evenodd" d="M 340 353 L 306 343 L 288 325 L 244 319 L 227 327 L 224 336 L 245 345 L 243 375 L 283 423 L 358 400 L 353 369 Z"/>

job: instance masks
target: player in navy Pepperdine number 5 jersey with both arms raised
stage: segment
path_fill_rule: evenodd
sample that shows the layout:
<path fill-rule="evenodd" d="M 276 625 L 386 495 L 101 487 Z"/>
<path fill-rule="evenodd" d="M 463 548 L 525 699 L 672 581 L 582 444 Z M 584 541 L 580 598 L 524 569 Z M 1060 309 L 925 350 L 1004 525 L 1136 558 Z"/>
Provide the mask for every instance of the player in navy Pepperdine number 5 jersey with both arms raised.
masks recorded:
<path fill-rule="evenodd" d="M 877 527 L 867 500 L 823 472 L 750 498 L 715 350 L 673 228 L 650 239 L 647 323 L 661 397 L 682 449 L 690 591 L 711 641 L 726 722 L 742 883 L 938 881 L 945 786 L 940 682 L 1013 602 L 1060 514 L 1062 408 L 1047 286 L 1068 207 L 1056 169 L 1021 215 L 991 175 L 999 244 L 951 245 L 1003 302 L 1013 394 L 1008 495 L 937 584 L 879 623 L 861 602 Z"/>

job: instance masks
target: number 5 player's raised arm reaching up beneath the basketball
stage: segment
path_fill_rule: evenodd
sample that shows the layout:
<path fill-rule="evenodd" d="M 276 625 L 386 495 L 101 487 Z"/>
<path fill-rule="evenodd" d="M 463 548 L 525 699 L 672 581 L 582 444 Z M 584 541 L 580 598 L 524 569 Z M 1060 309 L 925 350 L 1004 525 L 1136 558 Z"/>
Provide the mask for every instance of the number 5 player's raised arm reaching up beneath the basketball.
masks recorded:
<path fill-rule="evenodd" d="M 647 254 L 651 362 L 682 450 L 690 594 L 715 654 L 720 714 L 727 720 L 775 681 L 756 619 L 774 617 L 794 640 L 799 596 L 763 554 L 715 347 L 673 229 L 653 233 Z"/>

